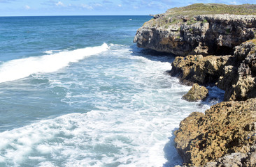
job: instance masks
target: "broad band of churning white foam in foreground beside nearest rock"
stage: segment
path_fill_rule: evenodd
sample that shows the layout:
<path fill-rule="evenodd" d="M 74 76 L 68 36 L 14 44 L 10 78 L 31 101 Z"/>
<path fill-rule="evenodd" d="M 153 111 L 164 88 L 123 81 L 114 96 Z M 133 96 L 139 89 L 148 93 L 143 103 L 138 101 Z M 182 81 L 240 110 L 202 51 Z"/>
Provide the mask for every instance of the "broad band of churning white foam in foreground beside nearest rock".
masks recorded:
<path fill-rule="evenodd" d="M 2 132 L 1 140 L 8 143 L 1 149 L 0 163 L 22 166 L 33 160 L 38 166 L 161 166 L 166 159 L 159 150 L 171 135 L 161 129 L 173 127 L 169 118 L 158 121 L 143 119 L 139 112 L 120 116 L 118 110 L 44 120 Z M 50 162 L 41 162 L 48 157 Z"/>

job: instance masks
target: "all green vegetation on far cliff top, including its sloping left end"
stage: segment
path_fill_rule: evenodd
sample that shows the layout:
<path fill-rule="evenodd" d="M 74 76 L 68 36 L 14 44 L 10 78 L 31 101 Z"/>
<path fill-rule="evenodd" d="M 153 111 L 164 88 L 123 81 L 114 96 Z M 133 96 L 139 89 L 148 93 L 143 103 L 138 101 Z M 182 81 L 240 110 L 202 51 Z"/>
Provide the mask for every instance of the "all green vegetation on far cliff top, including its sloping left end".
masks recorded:
<path fill-rule="evenodd" d="M 195 15 L 214 15 L 214 14 L 230 14 L 230 15 L 256 15 L 256 4 L 243 5 L 225 5 L 221 3 L 194 3 L 190 6 L 171 8 L 163 15 L 155 15 L 157 19 L 151 19 L 144 25 L 168 28 L 173 24 L 184 23 L 187 25 L 199 22 L 193 17 Z M 207 20 L 201 21 L 206 23 Z"/>

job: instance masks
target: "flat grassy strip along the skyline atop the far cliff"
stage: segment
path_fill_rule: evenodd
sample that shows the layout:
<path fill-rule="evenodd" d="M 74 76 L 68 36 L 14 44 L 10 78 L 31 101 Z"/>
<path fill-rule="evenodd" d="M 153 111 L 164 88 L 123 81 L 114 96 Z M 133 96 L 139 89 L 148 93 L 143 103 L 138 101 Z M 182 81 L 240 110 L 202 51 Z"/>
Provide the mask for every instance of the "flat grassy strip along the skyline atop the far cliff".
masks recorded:
<path fill-rule="evenodd" d="M 256 5 L 225 5 L 220 3 L 195 3 L 190 6 L 171 8 L 166 11 L 170 17 L 178 15 L 212 15 L 212 14 L 230 14 L 230 15 L 256 15 Z"/>

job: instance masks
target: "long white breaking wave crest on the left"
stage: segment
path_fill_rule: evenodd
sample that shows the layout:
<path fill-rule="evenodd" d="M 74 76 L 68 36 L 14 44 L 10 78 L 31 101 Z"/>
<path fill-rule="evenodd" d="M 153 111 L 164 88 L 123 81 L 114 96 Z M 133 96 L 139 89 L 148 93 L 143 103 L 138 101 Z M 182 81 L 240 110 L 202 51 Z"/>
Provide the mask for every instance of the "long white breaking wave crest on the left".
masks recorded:
<path fill-rule="evenodd" d="M 55 72 L 69 63 L 106 51 L 108 45 L 104 43 L 99 47 L 86 47 L 73 51 L 61 51 L 57 54 L 50 54 L 38 57 L 15 59 L 0 65 L 0 83 L 13 81 L 38 72 Z M 50 53 L 50 51 L 49 51 Z"/>

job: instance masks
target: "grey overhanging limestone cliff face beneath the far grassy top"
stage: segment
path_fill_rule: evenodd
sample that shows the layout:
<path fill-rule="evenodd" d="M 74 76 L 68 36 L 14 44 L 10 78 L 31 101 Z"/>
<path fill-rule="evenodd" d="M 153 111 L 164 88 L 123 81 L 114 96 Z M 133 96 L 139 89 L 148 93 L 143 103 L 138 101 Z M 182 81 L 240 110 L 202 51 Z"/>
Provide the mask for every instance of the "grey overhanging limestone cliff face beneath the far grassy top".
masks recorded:
<path fill-rule="evenodd" d="M 175 20 L 166 15 L 159 15 L 138 29 L 134 38 L 138 47 L 178 56 L 225 55 L 231 54 L 236 45 L 253 39 L 256 32 L 255 15 L 196 15 Z"/>

